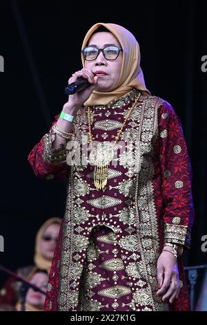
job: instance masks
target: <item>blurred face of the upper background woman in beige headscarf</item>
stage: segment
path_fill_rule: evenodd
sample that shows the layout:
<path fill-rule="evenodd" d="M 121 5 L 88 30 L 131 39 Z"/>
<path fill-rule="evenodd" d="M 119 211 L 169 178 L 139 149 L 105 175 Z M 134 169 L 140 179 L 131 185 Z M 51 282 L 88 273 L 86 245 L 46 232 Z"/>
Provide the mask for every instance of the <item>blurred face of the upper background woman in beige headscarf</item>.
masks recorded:
<path fill-rule="evenodd" d="M 52 223 L 46 228 L 41 238 L 41 254 L 46 259 L 51 259 L 55 252 L 55 246 L 57 243 L 57 237 L 59 234 L 60 225 L 58 223 Z"/>

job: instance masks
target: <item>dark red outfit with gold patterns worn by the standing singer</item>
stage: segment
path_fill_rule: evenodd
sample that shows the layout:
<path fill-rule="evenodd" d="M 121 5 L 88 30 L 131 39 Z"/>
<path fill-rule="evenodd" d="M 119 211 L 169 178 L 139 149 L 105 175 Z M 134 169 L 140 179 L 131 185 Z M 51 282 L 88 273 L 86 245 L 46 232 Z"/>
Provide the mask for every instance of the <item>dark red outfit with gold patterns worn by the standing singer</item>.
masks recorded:
<path fill-rule="evenodd" d="M 107 106 L 91 107 L 95 140 L 115 140 L 137 93 L 133 89 Z M 77 144 L 88 134 L 86 107 L 73 131 Z M 29 156 L 37 176 L 68 179 L 46 310 L 188 310 L 181 259 L 179 298 L 169 304 L 156 296 L 164 241 L 188 248 L 194 214 L 186 142 L 170 104 L 141 95 L 121 134 L 126 150 L 118 147 L 117 165 L 108 166 L 105 190 L 95 188 L 94 166 L 66 164 L 66 152 L 71 157 L 78 145 L 73 151 L 52 149 L 52 137 L 51 128 Z"/>

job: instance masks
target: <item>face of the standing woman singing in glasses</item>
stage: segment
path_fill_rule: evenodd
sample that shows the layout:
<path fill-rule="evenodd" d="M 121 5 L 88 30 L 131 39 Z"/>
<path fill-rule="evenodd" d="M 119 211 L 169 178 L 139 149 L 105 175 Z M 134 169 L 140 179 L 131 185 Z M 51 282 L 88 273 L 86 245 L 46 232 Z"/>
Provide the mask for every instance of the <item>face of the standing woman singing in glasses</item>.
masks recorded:
<path fill-rule="evenodd" d="M 115 45 L 121 48 L 119 41 L 111 32 L 96 32 L 90 37 L 88 46 L 94 46 L 97 48 L 104 48 L 106 44 Z M 96 91 L 112 91 L 116 88 L 119 76 L 121 73 L 122 64 L 122 51 L 119 52 L 117 59 L 109 61 L 103 57 L 103 53 L 100 52 L 97 59 L 93 61 L 85 60 L 85 68 L 90 69 L 94 74 L 96 71 L 103 71 L 106 75 L 98 75 L 98 86 Z"/>

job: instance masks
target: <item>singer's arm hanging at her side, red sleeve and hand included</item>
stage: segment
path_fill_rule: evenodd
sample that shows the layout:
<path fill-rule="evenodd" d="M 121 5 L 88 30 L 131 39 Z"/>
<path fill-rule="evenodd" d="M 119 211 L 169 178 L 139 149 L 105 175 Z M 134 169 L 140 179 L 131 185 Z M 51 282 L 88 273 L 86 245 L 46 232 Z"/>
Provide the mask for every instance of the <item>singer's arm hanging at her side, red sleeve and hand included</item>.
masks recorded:
<path fill-rule="evenodd" d="M 186 140 L 179 117 L 168 102 L 159 108 L 158 116 L 164 245 L 175 243 L 189 248 L 194 208 Z M 161 252 L 157 261 L 157 295 L 172 302 L 179 294 L 179 274 L 172 247 L 166 246 L 165 249 L 167 251 Z"/>

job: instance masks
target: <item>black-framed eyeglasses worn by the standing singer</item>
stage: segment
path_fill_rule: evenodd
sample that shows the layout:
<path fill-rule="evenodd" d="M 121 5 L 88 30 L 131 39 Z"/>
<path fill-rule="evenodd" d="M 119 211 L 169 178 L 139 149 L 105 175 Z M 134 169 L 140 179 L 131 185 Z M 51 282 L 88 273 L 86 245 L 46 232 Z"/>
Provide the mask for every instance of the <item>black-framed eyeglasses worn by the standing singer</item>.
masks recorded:
<path fill-rule="evenodd" d="M 86 61 L 97 59 L 100 52 L 103 53 L 103 57 L 105 57 L 105 59 L 112 61 L 117 59 L 121 50 L 122 48 L 119 48 L 118 46 L 106 46 L 105 48 L 94 48 L 92 46 L 87 46 L 86 48 L 83 48 L 82 53 Z"/>

